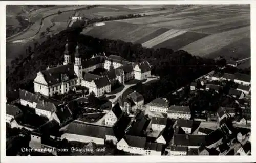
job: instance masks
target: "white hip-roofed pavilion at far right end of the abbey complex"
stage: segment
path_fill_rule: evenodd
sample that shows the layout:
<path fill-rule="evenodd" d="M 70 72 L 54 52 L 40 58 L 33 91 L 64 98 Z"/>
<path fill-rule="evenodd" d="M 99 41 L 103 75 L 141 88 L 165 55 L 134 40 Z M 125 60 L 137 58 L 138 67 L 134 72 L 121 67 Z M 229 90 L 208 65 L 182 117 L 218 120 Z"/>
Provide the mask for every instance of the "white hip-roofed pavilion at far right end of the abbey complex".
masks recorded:
<path fill-rule="evenodd" d="M 147 62 L 136 64 L 133 71 L 134 78 L 137 80 L 144 80 L 151 76 L 151 68 Z"/>

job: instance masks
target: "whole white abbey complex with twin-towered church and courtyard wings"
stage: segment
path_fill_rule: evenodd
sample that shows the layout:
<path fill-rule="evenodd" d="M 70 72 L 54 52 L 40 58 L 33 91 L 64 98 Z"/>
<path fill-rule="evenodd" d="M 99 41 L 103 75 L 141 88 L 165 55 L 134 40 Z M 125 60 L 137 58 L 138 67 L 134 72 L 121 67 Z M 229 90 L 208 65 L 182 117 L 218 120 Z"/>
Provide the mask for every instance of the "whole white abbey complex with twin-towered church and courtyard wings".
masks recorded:
<path fill-rule="evenodd" d="M 34 79 L 35 92 L 51 97 L 54 94 L 65 94 L 69 90 L 75 90 L 75 86 L 79 85 L 89 88 L 89 92 L 94 92 L 98 97 L 111 92 L 111 86 L 117 82 L 122 85 L 128 80 L 146 79 L 151 74 L 147 62 L 135 64 L 116 55 L 109 57 L 96 55 L 90 59 L 83 59 L 78 44 L 74 54 L 75 60 L 72 63 L 68 41 L 63 55 L 63 65 L 48 67 L 37 73 Z M 102 75 L 88 73 L 96 68 L 105 68 L 107 72 Z"/>

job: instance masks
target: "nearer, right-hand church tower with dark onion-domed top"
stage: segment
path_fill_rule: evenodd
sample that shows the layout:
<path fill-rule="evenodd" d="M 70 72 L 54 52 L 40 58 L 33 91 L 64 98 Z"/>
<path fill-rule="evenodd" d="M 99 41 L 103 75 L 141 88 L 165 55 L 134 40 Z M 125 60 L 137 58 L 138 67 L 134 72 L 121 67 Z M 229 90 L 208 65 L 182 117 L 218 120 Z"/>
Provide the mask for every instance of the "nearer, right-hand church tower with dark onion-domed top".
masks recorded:
<path fill-rule="evenodd" d="M 82 83 L 82 57 L 79 53 L 78 43 L 77 43 L 76 52 L 75 52 L 74 71 L 78 77 L 76 85 L 81 85 L 81 83 Z"/>

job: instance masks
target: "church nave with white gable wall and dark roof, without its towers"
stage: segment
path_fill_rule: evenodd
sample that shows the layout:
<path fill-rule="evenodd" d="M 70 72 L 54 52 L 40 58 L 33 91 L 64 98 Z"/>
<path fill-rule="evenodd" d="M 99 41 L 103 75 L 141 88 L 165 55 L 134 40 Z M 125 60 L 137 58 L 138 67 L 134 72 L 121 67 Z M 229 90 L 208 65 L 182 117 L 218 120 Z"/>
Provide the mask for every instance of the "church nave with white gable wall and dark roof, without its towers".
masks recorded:
<path fill-rule="evenodd" d="M 45 96 L 65 94 L 72 90 L 77 82 L 73 64 L 59 65 L 39 71 L 34 79 L 34 91 Z"/>

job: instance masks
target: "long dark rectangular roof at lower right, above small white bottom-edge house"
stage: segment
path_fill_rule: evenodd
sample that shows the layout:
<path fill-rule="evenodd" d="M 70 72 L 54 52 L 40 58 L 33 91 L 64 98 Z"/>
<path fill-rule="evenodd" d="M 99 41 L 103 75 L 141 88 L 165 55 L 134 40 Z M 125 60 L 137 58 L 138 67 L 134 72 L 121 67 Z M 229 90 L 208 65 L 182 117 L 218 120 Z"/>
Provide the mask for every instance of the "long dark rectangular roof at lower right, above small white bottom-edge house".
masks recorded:
<path fill-rule="evenodd" d="M 201 144 L 205 144 L 205 135 L 175 134 L 173 136 L 173 145 L 201 146 Z"/>

